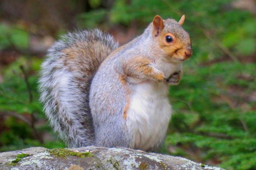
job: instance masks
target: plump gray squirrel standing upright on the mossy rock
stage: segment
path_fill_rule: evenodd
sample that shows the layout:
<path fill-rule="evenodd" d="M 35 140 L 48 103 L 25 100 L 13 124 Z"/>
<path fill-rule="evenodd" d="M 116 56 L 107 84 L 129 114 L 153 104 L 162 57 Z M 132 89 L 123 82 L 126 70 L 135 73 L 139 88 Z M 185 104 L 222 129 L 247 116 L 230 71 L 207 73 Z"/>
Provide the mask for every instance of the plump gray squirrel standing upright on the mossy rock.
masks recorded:
<path fill-rule="evenodd" d="M 40 100 L 68 147 L 159 149 L 172 114 L 169 85 L 180 82 L 182 63 L 192 55 L 184 19 L 155 16 L 121 47 L 95 29 L 68 33 L 49 48 Z"/>

